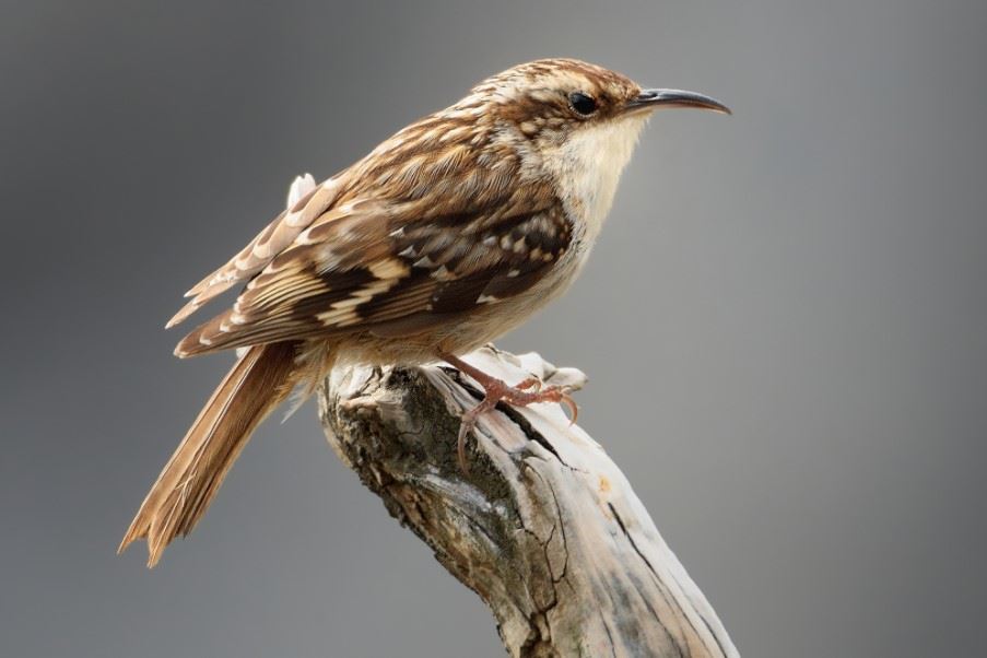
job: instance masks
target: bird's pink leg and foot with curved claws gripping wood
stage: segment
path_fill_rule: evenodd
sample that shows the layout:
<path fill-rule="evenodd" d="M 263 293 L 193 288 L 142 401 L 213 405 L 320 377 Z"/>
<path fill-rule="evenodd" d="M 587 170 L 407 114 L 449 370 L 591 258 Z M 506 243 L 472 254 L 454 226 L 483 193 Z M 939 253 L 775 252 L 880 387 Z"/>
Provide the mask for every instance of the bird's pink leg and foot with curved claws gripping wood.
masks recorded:
<path fill-rule="evenodd" d="M 487 411 L 493 410 L 497 406 L 497 402 L 504 401 L 515 407 L 527 407 L 528 404 L 536 404 L 538 402 L 557 402 L 569 410 L 573 423 L 576 422 L 576 418 L 579 415 L 579 408 L 576 407 L 576 402 L 569 397 L 568 387 L 549 386 L 542 388 L 542 383 L 537 377 L 529 377 L 517 386 L 508 386 L 501 379 L 491 377 L 483 371 L 471 366 L 453 354 L 447 354 L 445 352 L 438 352 L 437 354 L 439 359 L 460 372 L 466 373 L 483 387 L 483 400 L 463 413 L 462 421 L 459 424 L 459 438 L 456 444 L 456 453 L 459 457 L 459 468 L 462 469 L 462 472 L 465 473 L 469 472 L 466 461 L 466 437 L 470 431 L 477 426 L 477 419 Z"/>

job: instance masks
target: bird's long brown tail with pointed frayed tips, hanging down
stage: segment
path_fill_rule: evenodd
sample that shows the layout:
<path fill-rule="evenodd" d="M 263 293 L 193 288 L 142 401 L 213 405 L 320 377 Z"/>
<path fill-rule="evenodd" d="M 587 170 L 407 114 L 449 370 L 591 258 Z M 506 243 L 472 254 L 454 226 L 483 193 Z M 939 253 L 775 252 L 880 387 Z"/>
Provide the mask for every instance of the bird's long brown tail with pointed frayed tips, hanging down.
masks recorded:
<path fill-rule="evenodd" d="M 289 341 L 249 348 L 240 356 L 161 471 L 120 552 L 145 538 L 148 566 L 154 566 L 175 537 L 191 531 L 250 434 L 291 393 L 298 378 L 295 351 Z"/>

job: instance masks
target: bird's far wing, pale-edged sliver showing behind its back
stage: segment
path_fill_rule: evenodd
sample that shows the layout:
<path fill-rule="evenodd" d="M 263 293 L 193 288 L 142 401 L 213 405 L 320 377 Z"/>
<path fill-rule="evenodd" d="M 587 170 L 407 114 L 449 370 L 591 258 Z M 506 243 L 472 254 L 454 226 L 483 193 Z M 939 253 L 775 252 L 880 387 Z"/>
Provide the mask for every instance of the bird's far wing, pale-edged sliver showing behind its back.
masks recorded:
<path fill-rule="evenodd" d="M 168 320 L 167 327 L 181 322 L 203 304 L 260 272 L 332 207 L 338 190 L 339 183 L 332 178 L 318 186 L 309 174 L 297 178 L 289 192 L 287 210 L 274 218 L 226 265 L 185 293 L 191 299 Z"/>

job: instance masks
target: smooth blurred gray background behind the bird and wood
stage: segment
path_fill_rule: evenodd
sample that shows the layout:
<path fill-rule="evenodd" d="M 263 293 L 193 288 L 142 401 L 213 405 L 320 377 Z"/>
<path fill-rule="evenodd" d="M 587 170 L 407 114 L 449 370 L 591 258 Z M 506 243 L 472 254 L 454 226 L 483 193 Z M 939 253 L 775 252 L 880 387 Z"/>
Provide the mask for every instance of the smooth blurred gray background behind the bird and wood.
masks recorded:
<path fill-rule="evenodd" d="M 736 116 L 656 117 L 583 280 L 502 345 L 590 374 L 585 426 L 744 656 L 982 655 L 985 15 L 4 2 L 0 654 L 502 655 L 310 406 L 157 569 L 114 550 L 230 363 L 172 357 L 179 294 L 296 173 L 565 55 Z"/>

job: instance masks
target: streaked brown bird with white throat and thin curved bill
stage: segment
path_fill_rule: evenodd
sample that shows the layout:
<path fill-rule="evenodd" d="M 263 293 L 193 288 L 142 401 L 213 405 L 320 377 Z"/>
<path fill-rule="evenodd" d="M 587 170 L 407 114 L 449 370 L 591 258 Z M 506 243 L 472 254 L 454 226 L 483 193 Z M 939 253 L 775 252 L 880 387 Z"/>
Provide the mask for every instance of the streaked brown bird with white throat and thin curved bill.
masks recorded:
<path fill-rule="evenodd" d="M 310 189 L 186 293 L 174 327 L 240 286 L 189 332 L 179 357 L 237 350 L 127 530 L 153 567 L 201 519 L 260 422 L 333 368 L 446 362 L 483 400 L 458 453 L 497 402 L 575 404 L 566 389 L 515 386 L 461 359 L 562 295 L 609 214 L 642 128 L 658 109 L 730 114 L 694 92 L 645 89 L 585 61 L 515 66 L 386 139 Z M 313 181 L 314 183 L 314 181 Z"/>

